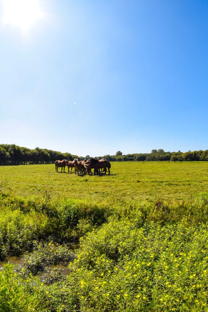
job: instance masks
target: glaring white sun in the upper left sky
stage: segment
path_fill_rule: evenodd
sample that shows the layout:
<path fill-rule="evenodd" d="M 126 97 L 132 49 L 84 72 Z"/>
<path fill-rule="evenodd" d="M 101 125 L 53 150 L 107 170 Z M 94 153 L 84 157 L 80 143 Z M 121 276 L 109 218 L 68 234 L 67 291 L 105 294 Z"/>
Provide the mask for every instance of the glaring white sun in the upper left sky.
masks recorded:
<path fill-rule="evenodd" d="M 2 0 L 3 22 L 21 30 L 29 30 L 31 25 L 43 18 L 38 0 Z"/>

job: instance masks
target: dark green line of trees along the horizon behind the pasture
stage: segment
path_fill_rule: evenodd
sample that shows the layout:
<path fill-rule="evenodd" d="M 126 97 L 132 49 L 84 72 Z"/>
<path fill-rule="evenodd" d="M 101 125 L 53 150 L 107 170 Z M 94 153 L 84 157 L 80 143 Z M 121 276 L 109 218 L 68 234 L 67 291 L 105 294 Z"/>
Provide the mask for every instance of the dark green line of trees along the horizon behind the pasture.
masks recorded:
<path fill-rule="evenodd" d="M 51 149 L 28 149 L 15 144 L 0 144 L 0 165 L 22 165 L 22 164 L 42 164 L 54 163 L 57 159 L 73 160 L 78 155 L 70 153 L 61 153 Z M 80 156 L 80 160 L 89 158 Z M 152 149 L 151 153 L 127 154 L 123 155 L 121 151 L 115 155 L 103 155 L 97 158 L 106 158 L 109 161 L 208 161 L 208 149 L 203 151 L 188 151 L 182 153 L 165 152 L 163 149 Z"/>

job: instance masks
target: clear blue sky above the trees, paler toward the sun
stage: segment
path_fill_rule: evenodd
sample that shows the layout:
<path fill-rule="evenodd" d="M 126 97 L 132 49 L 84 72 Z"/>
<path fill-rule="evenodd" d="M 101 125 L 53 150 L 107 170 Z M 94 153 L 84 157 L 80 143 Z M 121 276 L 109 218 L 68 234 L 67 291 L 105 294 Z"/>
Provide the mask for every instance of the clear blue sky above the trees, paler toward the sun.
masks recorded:
<path fill-rule="evenodd" d="M 206 0 L 39 8 L 27 31 L 1 23 L 0 143 L 82 156 L 208 149 Z"/>

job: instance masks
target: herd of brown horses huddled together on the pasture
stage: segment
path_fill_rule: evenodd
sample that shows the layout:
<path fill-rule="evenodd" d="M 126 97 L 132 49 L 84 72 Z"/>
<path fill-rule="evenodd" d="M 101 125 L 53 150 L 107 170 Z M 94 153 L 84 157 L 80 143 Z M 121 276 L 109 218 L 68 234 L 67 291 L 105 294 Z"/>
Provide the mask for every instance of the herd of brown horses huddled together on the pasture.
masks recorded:
<path fill-rule="evenodd" d="M 104 174 L 106 174 L 106 171 L 108 169 L 108 174 L 110 174 L 110 162 L 105 159 L 97 159 L 97 158 L 89 158 L 89 159 L 84 159 L 80 161 L 80 158 L 75 158 L 73 161 L 64 159 L 64 160 L 56 160 L 55 161 L 55 166 L 56 166 L 56 172 L 58 172 L 58 168 L 62 169 L 64 168 L 64 173 L 65 173 L 65 167 L 68 167 L 68 173 L 69 169 L 75 168 L 75 174 L 90 174 L 92 173 L 92 169 L 94 169 L 93 174 L 99 174 L 100 171 L 104 171 Z"/>

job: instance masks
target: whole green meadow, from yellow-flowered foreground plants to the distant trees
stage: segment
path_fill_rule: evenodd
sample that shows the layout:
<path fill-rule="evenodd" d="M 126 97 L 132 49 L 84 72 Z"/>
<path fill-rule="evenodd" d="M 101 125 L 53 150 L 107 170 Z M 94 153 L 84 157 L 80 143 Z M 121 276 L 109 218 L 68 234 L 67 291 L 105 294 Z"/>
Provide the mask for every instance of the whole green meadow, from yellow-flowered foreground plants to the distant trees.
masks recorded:
<path fill-rule="evenodd" d="M 207 172 L 0 167 L 0 311 L 208 311 Z"/>

